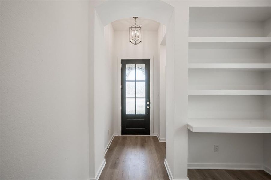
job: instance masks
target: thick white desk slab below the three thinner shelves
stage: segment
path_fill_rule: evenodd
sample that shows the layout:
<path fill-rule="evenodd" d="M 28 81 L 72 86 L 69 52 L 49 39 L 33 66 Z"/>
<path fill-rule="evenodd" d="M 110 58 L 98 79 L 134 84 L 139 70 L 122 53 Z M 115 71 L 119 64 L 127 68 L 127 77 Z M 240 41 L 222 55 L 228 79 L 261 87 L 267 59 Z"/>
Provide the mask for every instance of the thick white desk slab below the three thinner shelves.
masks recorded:
<path fill-rule="evenodd" d="M 271 133 L 271 120 L 189 119 L 187 128 L 202 133 Z"/>

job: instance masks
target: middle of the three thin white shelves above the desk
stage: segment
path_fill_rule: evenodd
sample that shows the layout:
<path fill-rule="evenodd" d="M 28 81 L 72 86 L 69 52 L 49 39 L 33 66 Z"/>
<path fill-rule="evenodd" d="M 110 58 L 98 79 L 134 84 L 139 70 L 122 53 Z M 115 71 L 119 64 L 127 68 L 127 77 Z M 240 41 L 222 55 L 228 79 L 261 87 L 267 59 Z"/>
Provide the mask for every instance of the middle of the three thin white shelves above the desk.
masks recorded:
<path fill-rule="evenodd" d="M 271 63 L 189 63 L 189 69 L 260 69 L 271 70 Z"/>

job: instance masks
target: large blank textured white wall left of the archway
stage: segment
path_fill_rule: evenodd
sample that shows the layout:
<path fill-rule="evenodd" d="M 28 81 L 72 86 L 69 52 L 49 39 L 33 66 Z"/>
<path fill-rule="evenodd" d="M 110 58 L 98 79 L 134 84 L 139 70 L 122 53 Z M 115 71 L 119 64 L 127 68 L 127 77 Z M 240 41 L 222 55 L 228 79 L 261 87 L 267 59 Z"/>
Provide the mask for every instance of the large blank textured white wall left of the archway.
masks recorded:
<path fill-rule="evenodd" d="M 87 84 L 87 1 L 1 1 L 1 179 L 88 179 Z"/>

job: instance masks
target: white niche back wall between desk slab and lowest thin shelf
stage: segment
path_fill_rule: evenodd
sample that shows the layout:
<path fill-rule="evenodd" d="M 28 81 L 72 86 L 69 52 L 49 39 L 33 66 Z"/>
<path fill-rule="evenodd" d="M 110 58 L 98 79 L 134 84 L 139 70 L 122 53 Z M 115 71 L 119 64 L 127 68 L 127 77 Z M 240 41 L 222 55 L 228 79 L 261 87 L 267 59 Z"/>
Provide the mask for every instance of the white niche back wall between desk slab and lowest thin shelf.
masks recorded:
<path fill-rule="evenodd" d="M 189 118 L 263 119 L 262 96 L 189 96 Z"/>

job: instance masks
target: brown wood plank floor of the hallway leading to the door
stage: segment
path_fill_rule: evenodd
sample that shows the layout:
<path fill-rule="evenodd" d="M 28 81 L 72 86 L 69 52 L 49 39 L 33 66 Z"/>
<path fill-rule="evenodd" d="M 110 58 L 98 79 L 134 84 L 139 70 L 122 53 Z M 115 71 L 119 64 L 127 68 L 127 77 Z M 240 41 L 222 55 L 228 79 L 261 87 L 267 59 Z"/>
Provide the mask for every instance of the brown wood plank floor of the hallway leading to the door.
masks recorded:
<path fill-rule="evenodd" d="M 169 180 L 156 136 L 115 136 L 110 148 L 99 180 Z"/>

